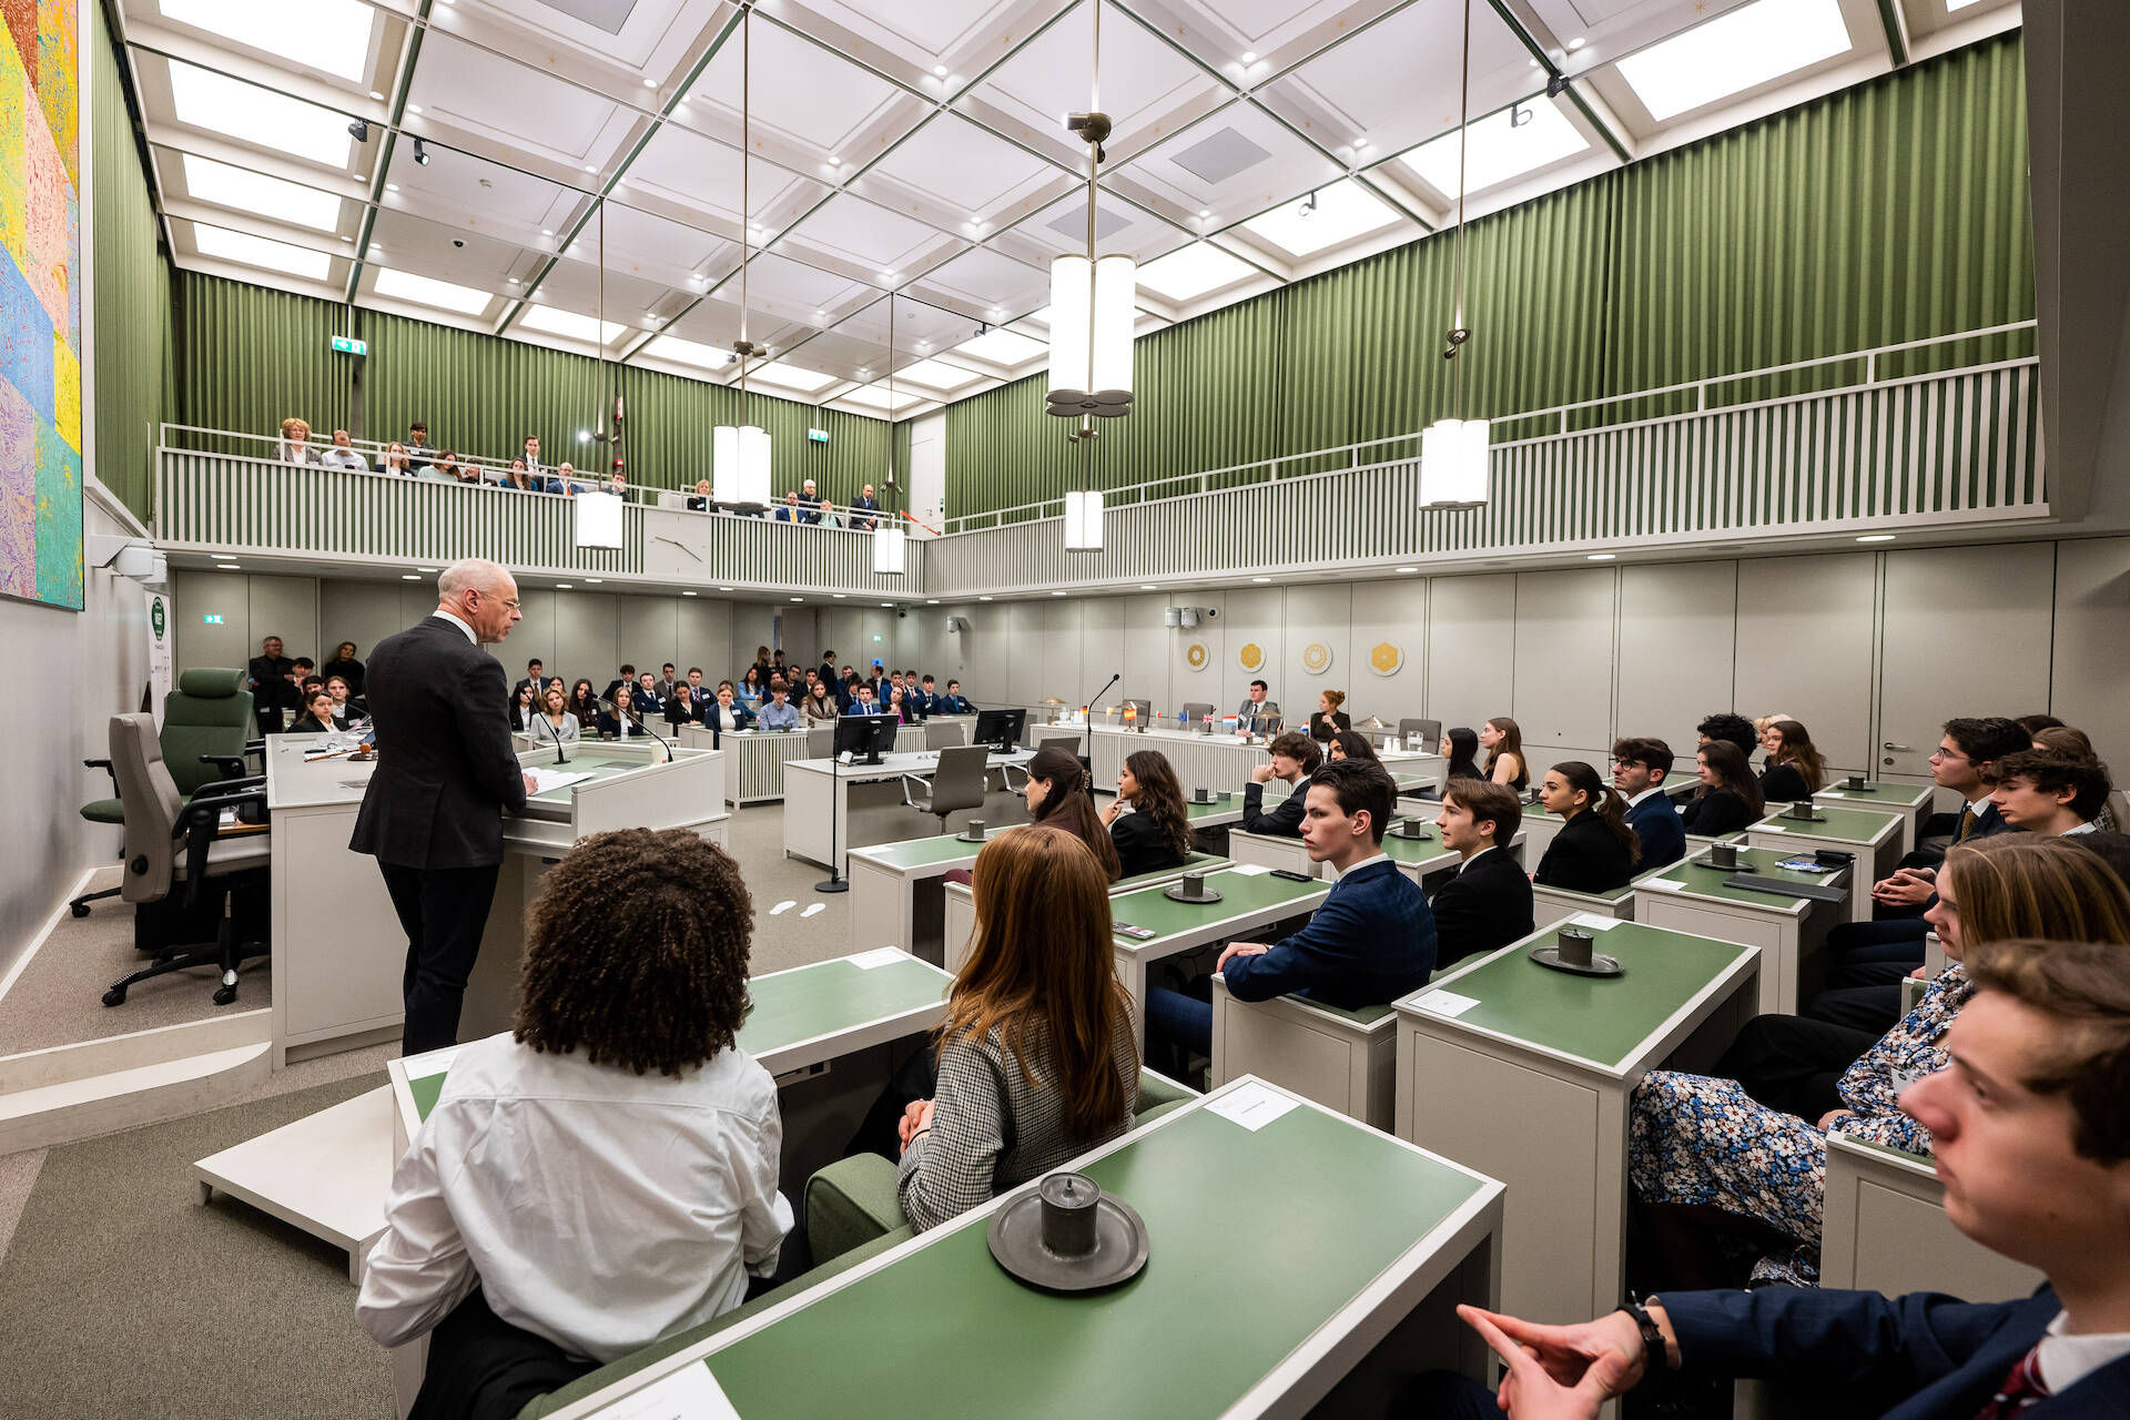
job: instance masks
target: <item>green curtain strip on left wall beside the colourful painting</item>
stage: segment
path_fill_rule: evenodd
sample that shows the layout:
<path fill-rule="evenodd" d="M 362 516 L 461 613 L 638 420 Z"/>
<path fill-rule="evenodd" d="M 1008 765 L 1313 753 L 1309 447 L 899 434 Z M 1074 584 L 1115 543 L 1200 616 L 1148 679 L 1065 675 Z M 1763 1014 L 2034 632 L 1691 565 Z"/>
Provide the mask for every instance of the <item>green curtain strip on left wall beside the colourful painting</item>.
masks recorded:
<path fill-rule="evenodd" d="M 170 262 L 126 109 L 126 79 L 102 6 L 87 4 L 83 45 L 94 66 L 89 262 L 96 332 L 96 464 L 89 468 L 136 517 L 149 517 L 149 460 L 170 398 Z"/>

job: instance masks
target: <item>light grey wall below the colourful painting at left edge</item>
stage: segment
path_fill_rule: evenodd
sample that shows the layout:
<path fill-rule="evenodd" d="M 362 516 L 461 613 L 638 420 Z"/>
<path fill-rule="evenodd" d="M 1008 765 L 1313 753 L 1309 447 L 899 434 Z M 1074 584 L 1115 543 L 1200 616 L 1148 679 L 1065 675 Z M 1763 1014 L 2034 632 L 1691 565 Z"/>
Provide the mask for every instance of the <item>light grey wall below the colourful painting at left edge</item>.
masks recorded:
<path fill-rule="evenodd" d="M 130 528 L 92 488 L 89 536 Z M 109 749 L 111 715 L 141 709 L 147 692 L 147 594 L 92 568 L 87 607 L 58 611 L 0 600 L 0 645 L 19 694 L 0 696 L 0 739 L 11 749 L 6 828 L 0 830 L 0 977 L 72 894 L 81 871 L 117 858 L 115 828 L 96 828 L 81 805 L 111 796 L 111 779 L 83 769 Z M 9 1043 L 0 1041 L 0 1054 Z"/>

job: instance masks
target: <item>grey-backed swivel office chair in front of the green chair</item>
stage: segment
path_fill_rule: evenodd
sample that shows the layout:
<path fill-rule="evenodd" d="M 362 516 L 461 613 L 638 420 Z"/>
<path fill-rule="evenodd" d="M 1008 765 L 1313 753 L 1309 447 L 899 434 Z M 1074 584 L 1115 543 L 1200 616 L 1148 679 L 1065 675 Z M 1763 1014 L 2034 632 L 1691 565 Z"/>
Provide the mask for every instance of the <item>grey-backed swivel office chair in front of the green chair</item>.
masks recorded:
<path fill-rule="evenodd" d="M 266 779 L 211 783 L 185 798 L 162 762 L 162 741 L 149 715 L 111 717 L 111 773 L 126 800 L 126 879 L 119 896 L 136 911 L 166 905 L 175 909 L 168 913 L 175 922 L 198 905 L 202 884 L 213 884 L 222 901 L 211 943 L 162 945 L 151 964 L 111 984 L 104 1005 L 121 1005 L 126 988 L 138 981 L 190 967 L 219 967 L 215 1005 L 236 1001 L 236 967 L 264 956 L 268 943 L 239 937 L 232 898 L 239 888 L 264 892 L 273 837 L 271 830 L 222 837 L 222 811 L 236 809 L 241 820 L 264 824 Z"/>

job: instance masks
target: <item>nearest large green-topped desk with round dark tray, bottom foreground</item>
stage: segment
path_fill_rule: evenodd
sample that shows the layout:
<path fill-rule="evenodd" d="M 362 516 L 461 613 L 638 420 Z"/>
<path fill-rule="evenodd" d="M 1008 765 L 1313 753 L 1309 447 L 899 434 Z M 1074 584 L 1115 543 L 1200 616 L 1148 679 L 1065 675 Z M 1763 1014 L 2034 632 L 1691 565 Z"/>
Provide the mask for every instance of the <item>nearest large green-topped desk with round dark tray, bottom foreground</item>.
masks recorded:
<path fill-rule="evenodd" d="M 1287 1111 L 1255 1130 L 1220 1113 L 1244 1105 Z M 1255 1079 L 1071 1167 L 1146 1220 L 1146 1269 L 1120 1288 L 1052 1297 L 1014 1282 L 984 1243 L 995 1201 L 556 1420 L 701 1386 L 699 1369 L 748 1420 L 1380 1414 L 1423 1369 L 1485 1371 L 1453 1307 L 1495 1294 L 1491 1179 Z M 1248 1228 L 1244 1245 L 1235 1209 L 1214 1199 L 1276 1201 L 1278 1226 Z"/>

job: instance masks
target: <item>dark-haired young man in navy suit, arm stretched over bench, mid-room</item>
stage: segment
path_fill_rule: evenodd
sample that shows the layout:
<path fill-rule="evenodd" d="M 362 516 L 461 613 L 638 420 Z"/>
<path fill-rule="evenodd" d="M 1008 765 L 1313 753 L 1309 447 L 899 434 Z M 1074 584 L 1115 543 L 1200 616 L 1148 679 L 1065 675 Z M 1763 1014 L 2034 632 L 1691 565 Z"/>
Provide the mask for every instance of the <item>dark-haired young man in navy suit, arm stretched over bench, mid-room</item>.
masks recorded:
<path fill-rule="evenodd" d="M 1235 941 L 1214 967 L 1238 1001 L 1287 992 L 1340 1009 L 1384 1005 L 1427 986 L 1436 969 L 1436 920 L 1427 894 L 1382 852 L 1397 786 L 1372 760 L 1333 760 L 1308 783 L 1301 845 L 1312 862 L 1338 869 L 1338 886 L 1293 937 Z M 1189 992 L 1146 994 L 1148 1060 L 1157 1041 L 1212 1052 L 1212 977 Z M 1154 1069 L 1161 1069 L 1159 1064 Z"/>

